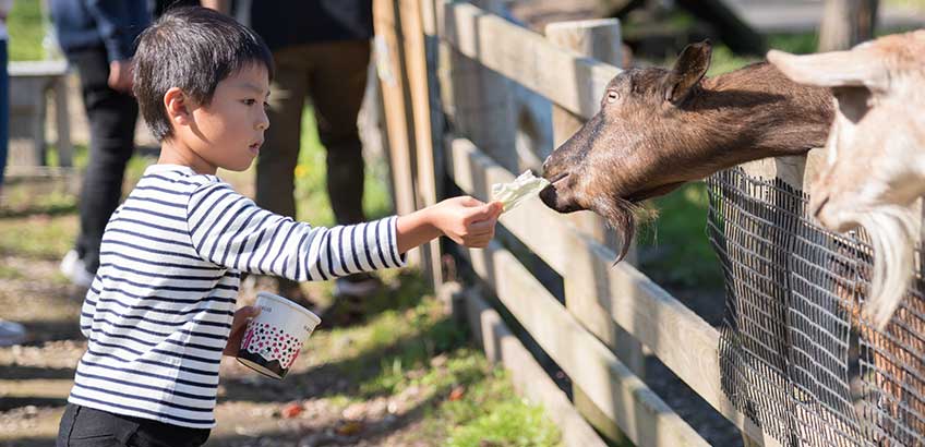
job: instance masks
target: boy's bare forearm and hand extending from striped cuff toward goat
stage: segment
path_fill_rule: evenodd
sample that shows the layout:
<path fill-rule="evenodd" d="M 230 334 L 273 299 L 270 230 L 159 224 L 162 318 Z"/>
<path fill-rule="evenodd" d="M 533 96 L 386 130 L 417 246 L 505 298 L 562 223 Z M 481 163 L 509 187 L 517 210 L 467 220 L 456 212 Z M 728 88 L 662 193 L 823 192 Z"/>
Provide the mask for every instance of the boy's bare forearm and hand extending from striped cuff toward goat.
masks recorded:
<path fill-rule="evenodd" d="M 398 253 L 441 235 L 460 245 L 484 247 L 494 237 L 494 226 L 503 207 L 501 202 L 485 204 L 461 196 L 400 216 L 396 222 Z"/>

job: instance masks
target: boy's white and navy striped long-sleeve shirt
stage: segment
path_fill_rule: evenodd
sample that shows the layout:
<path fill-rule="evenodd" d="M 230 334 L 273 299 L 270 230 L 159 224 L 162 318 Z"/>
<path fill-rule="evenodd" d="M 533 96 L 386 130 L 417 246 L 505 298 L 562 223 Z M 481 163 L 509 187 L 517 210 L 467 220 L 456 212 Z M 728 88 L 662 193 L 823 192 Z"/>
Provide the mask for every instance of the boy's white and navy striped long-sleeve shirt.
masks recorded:
<path fill-rule="evenodd" d="M 311 227 L 215 176 L 152 166 L 106 227 L 81 312 L 87 351 L 68 400 L 211 428 L 241 271 L 325 280 L 404 262 L 396 217 Z"/>

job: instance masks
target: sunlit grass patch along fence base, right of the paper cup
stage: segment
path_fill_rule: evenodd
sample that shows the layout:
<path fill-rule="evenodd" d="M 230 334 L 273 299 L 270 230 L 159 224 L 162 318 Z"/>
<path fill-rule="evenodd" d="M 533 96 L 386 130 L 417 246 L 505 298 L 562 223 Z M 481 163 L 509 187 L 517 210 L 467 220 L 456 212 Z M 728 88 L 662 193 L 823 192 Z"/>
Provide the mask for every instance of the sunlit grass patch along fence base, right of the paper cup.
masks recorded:
<path fill-rule="evenodd" d="M 441 309 L 428 297 L 404 311 L 383 312 L 364 326 L 310 339 L 313 355 L 338 364 L 353 384 L 328 399 L 347 407 L 413 391 L 423 402 L 416 439 L 445 439 L 442 445 L 458 447 L 560 445 L 542 409 L 522 402 L 506 374 L 492 369 Z M 339 345 L 344 340 L 349 346 Z"/>

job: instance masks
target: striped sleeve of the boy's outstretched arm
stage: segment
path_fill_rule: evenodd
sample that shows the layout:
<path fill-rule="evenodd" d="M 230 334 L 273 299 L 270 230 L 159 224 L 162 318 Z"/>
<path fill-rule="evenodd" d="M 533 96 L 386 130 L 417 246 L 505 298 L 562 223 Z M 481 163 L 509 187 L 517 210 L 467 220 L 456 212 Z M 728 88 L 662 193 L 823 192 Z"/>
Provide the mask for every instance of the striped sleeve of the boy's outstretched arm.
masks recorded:
<path fill-rule="evenodd" d="M 312 227 L 256 206 L 224 182 L 197 188 L 187 216 L 196 253 L 236 270 L 312 281 L 406 264 L 395 216 Z"/>

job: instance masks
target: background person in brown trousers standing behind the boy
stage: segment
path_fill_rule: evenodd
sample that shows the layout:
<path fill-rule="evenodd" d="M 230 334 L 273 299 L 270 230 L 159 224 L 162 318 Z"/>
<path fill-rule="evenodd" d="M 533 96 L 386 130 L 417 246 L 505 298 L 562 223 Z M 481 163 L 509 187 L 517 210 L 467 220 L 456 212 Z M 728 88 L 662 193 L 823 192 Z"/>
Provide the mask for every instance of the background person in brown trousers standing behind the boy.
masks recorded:
<path fill-rule="evenodd" d="M 327 193 L 338 225 L 365 221 L 364 164 L 357 117 L 367 86 L 372 0 L 203 0 L 251 26 L 273 51 L 266 150 L 257 161 L 257 205 L 296 217 L 295 171 L 299 160 L 302 110 L 310 99 L 327 152 Z M 233 8 L 232 8 L 233 7 Z M 335 297 L 359 303 L 381 281 L 369 274 L 335 281 Z M 312 305 L 298 287 L 279 280 L 279 293 Z"/>

